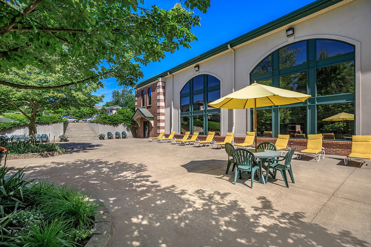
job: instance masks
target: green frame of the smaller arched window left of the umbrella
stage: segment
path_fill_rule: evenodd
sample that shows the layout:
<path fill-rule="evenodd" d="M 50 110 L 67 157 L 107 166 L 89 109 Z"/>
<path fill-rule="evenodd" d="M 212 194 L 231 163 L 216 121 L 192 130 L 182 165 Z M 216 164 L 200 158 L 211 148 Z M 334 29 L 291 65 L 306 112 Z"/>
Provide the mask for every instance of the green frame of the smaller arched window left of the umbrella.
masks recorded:
<path fill-rule="evenodd" d="M 198 90 L 193 90 L 193 79 L 198 77 L 198 76 L 202 76 L 203 77 L 203 88 L 201 89 L 198 89 Z M 207 80 L 208 78 L 210 79 L 213 79 L 213 82 L 215 82 L 215 80 L 218 80 L 219 81 L 219 85 L 215 85 L 215 83 L 213 83 L 213 86 L 210 86 L 210 87 L 207 87 Z M 189 83 L 189 84 L 188 84 Z M 189 81 L 187 81 L 187 83 L 184 85 L 184 87 L 180 90 L 183 91 L 183 89 L 185 87 L 190 87 L 190 90 L 189 92 L 187 93 L 181 93 L 180 94 L 180 102 L 182 99 L 187 99 L 187 97 L 189 98 L 189 104 L 190 104 L 190 109 L 189 111 L 186 111 L 186 112 L 180 112 L 180 119 L 181 117 L 189 117 L 189 128 L 190 128 L 190 133 L 193 133 L 193 116 L 198 116 L 198 115 L 202 115 L 203 116 L 203 129 L 204 129 L 204 134 L 206 135 L 207 134 L 207 114 L 217 114 L 219 113 L 220 114 L 220 109 L 217 109 L 217 108 L 210 108 L 207 106 L 207 102 L 208 102 L 208 93 L 210 92 L 213 92 L 213 91 L 220 91 L 220 80 L 217 79 L 216 77 L 214 76 L 211 76 L 209 74 L 199 74 L 195 77 L 193 77 L 192 79 L 190 79 Z M 185 90 L 185 91 L 188 91 L 188 90 Z M 193 108 L 193 97 L 194 96 L 197 96 L 198 94 L 203 94 L 203 110 L 194 110 Z M 219 94 L 220 95 L 220 94 Z M 181 105 L 181 103 L 180 103 Z"/>

